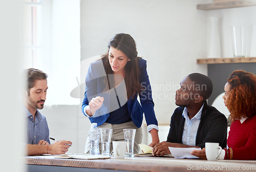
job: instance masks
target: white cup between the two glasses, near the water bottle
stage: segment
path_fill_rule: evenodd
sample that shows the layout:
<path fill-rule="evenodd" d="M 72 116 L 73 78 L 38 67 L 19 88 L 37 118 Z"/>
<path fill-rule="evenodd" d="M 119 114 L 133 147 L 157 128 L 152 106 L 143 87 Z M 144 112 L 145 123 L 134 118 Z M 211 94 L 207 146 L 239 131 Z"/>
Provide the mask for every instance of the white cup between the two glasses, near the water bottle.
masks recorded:
<path fill-rule="evenodd" d="M 114 158 L 124 159 L 124 156 L 125 156 L 125 153 L 126 153 L 127 142 L 125 142 L 125 141 L 113 141 L 112 144 L 113 144 Z"/>

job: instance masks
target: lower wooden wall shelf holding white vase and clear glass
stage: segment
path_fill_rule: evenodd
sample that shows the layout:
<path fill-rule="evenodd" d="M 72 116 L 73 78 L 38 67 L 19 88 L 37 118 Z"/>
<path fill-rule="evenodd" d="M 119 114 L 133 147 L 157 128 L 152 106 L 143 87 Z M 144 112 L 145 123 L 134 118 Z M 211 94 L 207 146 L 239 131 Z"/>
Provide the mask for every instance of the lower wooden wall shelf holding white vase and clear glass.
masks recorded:
<path fill-rule="evenodd" d="M 198 64 L 252 63 L 252 62 L 256 62 L 256 57 L 197 59 Z"/>

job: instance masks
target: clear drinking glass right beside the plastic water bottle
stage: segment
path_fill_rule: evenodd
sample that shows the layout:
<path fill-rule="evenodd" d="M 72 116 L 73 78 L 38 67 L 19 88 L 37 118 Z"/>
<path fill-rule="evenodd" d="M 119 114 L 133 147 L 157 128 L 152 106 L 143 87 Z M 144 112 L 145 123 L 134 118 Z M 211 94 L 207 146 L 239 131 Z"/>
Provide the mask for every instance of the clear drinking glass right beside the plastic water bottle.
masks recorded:
<path fill-rule="evenodd" d="M 112 129 L 100 128 L 101 155 L 110 155 Z"/>

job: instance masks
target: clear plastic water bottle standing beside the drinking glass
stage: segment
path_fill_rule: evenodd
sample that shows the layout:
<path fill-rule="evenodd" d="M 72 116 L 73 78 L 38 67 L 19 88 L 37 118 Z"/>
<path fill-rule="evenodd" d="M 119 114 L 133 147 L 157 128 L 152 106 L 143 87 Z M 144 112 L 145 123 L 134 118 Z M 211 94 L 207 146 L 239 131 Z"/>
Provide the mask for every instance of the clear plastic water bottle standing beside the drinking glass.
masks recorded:
<path fill-rule="evenodd" d="M 89 135 L 90 135 L 90 154 L 99 155 L 100 130 L 97 127 L 97 123 L 92 123 L 91 129 L 89 131 Z"/>

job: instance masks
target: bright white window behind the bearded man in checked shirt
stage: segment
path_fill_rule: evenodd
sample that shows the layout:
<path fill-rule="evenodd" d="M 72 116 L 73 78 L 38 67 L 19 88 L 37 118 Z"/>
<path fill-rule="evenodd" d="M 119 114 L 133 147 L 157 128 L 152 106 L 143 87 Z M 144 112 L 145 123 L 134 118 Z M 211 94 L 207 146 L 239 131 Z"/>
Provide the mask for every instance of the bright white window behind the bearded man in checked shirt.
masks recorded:
<path fill-rule="evenodd" d="M 80 0 L 24 0 L 22 66 L 47 73 L 46 105 L 80 104 Z"/>

